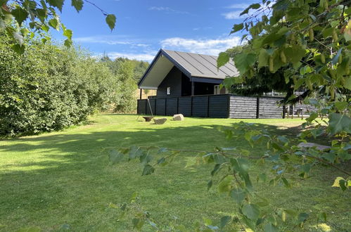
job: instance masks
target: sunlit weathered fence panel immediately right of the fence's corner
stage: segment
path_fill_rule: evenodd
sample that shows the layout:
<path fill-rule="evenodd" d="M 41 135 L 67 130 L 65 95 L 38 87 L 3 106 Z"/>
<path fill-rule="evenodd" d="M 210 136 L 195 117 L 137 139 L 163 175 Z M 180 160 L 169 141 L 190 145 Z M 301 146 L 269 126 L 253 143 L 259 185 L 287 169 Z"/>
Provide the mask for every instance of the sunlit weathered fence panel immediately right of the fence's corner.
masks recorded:
<path fill-rule="evenodd" d="M 230 118 L 257 118 L 257 98 L 230 96 Z"/>

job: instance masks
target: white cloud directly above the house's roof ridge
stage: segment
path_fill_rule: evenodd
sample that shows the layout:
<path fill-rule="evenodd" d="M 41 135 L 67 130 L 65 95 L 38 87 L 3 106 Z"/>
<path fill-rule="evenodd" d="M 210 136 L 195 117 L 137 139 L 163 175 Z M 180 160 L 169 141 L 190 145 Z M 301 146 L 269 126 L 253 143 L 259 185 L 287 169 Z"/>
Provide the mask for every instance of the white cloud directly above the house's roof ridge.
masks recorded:
<path fill-rule="evenodd" d="M 163 49 L 172 49 L 177 51 L 187 51 L 192 53 L 202 53 L 205 55 L 217 56 L 220 52 L 226 51 L 233 46 L 240 44 L 240 37 L 228 37 L 219 39 L 184 39 L 173 37 L 162 40 Z"/>

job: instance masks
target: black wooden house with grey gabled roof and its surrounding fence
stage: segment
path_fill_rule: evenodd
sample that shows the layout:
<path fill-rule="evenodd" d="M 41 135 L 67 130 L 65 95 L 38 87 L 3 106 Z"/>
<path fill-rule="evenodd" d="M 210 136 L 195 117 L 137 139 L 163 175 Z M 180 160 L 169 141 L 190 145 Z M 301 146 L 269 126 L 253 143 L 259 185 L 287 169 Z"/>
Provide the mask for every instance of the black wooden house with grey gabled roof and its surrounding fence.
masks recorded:
<path fill-rule="evenodd" d="M 160 49 L 138 82 L 156 96 L 138 100 L 138 114 L 224 118 L 281 118 L 281 98 L 227 94 L 219 84 L 238 75 L 233 62 L 217 68 L 217 56 Z M 140 95 L 141 96 L 141 95 Z"/>

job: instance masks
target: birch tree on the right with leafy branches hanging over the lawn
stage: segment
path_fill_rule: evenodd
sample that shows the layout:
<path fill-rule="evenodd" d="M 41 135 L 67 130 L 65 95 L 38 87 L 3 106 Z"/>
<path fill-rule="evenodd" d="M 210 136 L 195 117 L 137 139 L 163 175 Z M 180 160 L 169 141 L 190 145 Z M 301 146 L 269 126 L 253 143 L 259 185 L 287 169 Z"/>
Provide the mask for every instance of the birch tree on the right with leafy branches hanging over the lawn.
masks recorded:
<path fill-rule="evenodd" d="M 241 231 L 250 228 L 253 231 L 281 231 L 289 229 L 287 222 L 302 228 L 315 221 L 326 221 L 326 212 L 311 215 L 309 212 L 296 212 L 289 205 L 267 212 L 265 205 L 270 200 L 255 193 L 255 182 L 250 173 L 250 160 L 257 164 L 269 163 L 274 175 L 267 181 L 262 173 L 257 179 L 275 185 L 281 183 L 286 188 L 293 188 L 291 175 L 298 173 L 299 178 L 311 176 L 313 165 L 328 165 L 340 174 L 333 183 L 346 191 L 351 186 L 350 171 L 340 167 L 340 162 L 351 160 L 351 118 L 350 118 L 350 60 L 351 60 L 351 8 L 350 1 L 309 0 L 275 2 L 263 0 L 262 4 L 252 4 L 241 15 L 248 14 L 243 23 L 234 25 L 232 32 L 243 31 L 243 39 L 248 40 L 248 48 L 234 56 L 234 64 L 240 72 L 237 77 L 226 79 L 226 86 L 234 84 L 253 84 L 253 79 L 269 78 L 267 83 L 281 83 L 283 78 L 288 89 L 307 89 L 305 103 L 318 108 L 302 124 L 298 139 L 328 136 L 331 148 L 321 150 L 315 147 L 302 148 L 296 141 L 286 136 L 269 134 L 269 131 L 258 130 L 253 124 L 235 124 L 233 129 L 224 131 L 226 138 L 243 136 L 250 145 L 266 143 L 264 155 L 255 156 L 240 148 L 216 148 L 209 151 L 179 150 L 172 148 L 121 148 L 110 153 L 110 161 L 120 162 L 125 157 L 130 160 L 138 158 L 143 165 L 142 175 L 152 174 L 158 165 L 167 165 L 174 159 L 181 159 L 183 152 L 194 153 L 187 166 L 198 163 L 212 163 L 214 168 L 208 188 L 214 186 L 217 176 L 219 192 L 228 193 L 236 202 L 238 217 L 226 215 L 219 225 L 204 220 L 204 225 L 193 228 L 193 231 L 216 231 L 227 224 L 237 224 Z M 220 53 L 218 67 L 230 61 L 231 54 Z M 258 75 L 258 77 L 257 77 Z M 314 93 L 314 97 L 309 93 Z M 295 98 L 291 95 L 287 100 Z M 321 118 L 318 118 L 321 116 Z M 324 118 L 328 117 L 328 120 Z M 157 162 L 152 162 L 151 154 L 165 154 Z M 262 165 L 262 169 L 264 166 Z M 293 191 L 293 190 L 292 190 Z M 122 209 L 125 210 L 126 207 Z M 151 226 L 155 223 L 148 214 L 136 213 L 133 219 L 135 228 L 141 229 L 143 221 Z M 157 228 L 157 226 L 156 226 Z M 181 226 L 178 227 L 179 230 Z M 185 228 L 184 228 L 185 230 Z"/>

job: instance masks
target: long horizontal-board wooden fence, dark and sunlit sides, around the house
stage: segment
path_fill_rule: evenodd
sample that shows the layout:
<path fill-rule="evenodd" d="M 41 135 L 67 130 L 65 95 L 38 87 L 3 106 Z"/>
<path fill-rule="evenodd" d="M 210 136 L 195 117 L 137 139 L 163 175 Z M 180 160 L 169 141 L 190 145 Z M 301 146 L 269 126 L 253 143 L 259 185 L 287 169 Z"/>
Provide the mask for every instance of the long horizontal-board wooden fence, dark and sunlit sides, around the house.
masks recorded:
<path fill-rule="evenodd" d="M 154 115 L 183 114 L 186 117 L 283 118 L 285 108 L 277 104 L 282 98 L 245 97 L 231 94 L 150 98 Z M 138 100 L 139 115 L 151 115 L 147 99 Z"/>

